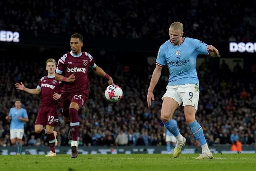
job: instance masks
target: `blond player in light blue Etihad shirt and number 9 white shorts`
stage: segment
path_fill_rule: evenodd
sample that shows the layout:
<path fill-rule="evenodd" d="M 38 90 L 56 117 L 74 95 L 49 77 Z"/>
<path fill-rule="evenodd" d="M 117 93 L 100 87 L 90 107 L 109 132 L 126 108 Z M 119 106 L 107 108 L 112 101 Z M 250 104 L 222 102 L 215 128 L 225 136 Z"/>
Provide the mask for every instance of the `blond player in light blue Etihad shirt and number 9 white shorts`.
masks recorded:
<path fill-rule="evenodd" d="M 162 96 L 161 120 L 177 139 L 173 156 L 180 155 L 183 145 L 186 143 L 177 125 L 172 120 L 174 111 L 182 104 L 184 116 L 194 137 L 202 147 L 202 153 L 196 159 L 212 159 L 212 153 L 206 143 L 201 125 L 196 121 L 196 111 L 199 100 L 199 81 L 196 72 L 196 58 L 198 54 L 217 57 L 219 52 L 214 46 L 204 42 L 185 38 L 183 36 L 183 24 L 174 22 L 169 28 L 170 40 L 166 41 L 159 48 L 156 58 L 156 68 L 152 74 L 148 87 L 148 106 L 154 100 L 153 90 L 156 86 L 164 66 L 169 68 L 169 82 L 166 86 L 166 93 Z"/>

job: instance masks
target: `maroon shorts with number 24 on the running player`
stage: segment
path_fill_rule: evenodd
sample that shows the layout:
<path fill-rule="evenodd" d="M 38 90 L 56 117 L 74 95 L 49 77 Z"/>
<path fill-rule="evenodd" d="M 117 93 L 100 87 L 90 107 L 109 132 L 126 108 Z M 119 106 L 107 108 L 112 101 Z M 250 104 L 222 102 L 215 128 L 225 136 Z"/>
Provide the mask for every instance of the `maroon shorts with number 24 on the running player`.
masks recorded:
<path fill-rule="evenodd" d="M 76 102 L 79 105 L 79 109 L 84 105 L 86 100 L 89 98 L 89 90 L 88 93 L 71 93 L 71 94 L 62 94 L 60 97 L 60 104 L 62 107 L 62 111 L 66 111 L 69 109 L 70 103 Z"/>

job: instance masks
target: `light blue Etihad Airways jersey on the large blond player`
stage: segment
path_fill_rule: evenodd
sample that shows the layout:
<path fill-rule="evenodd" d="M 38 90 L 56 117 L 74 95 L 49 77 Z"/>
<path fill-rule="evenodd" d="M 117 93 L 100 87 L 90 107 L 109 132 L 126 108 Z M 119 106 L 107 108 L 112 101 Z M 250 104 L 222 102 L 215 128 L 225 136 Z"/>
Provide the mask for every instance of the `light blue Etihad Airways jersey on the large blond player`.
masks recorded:
<path fill-rule="evenodd" d="M 184 38 L 182 43 L 174 45 L 167 40 L 159 48 L 156 64 L 169 68 L 168 85 L 196 84 L 199 81 L 196 72 L 198 54 L 208 55 L 208 45 L 197 39 Z"/>

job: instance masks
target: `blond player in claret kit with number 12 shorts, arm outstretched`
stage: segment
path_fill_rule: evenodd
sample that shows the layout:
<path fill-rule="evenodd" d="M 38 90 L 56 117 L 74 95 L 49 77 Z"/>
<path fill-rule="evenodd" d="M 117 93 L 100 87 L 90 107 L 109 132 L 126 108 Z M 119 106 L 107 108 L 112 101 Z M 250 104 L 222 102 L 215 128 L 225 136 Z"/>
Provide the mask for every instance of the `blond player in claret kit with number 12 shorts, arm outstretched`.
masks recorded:
<path fill-rule="evenodd" d="M 47 76 L 40 79 L 35 89 L 25 87 L 22 82 L 16 83 L 16 89 L 26 91 L 30 94 L 41 93 L 41 105 L 36 117 L 35 132 L 45 135 L 49 140 L 50 151 L 46 157 L 56 156 L 55 146 L 58 145 L 57 131 L 54 131 L 54 127 L 58 126 L 58 109 L 60 99 L 60 85 L 61 82 L 55 79 L 55 71 L 57 68 L 56 60 L 50 58 L 46 61 Z M 46 129 L 44 126 L 46 125 Z"/>

